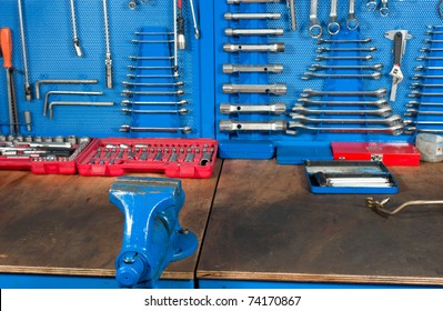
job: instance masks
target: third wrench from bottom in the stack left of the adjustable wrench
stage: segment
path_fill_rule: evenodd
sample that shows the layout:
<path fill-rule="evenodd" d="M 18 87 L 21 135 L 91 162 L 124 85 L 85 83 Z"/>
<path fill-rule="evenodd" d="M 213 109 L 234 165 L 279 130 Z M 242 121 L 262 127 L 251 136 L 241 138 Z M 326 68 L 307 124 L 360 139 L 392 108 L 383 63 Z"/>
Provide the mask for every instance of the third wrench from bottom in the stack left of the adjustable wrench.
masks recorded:
<path fill-rule="evenodd" d="M 302 104 L 295 104 L 292 108 L 293 112 L 304 114 L 304 116 L 376 116 L 382 118 L 387 118 L 392 116 L 393 110 L 389 106 L 375 110 L 335 110 L 335 109 L 308 109 Z"/>

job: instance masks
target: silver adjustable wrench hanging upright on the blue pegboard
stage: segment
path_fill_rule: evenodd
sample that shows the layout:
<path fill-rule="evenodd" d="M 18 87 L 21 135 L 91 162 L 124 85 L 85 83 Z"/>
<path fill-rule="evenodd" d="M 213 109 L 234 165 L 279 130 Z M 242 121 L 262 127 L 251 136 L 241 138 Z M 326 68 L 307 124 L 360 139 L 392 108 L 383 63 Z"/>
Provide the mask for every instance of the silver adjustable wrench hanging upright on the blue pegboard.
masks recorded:
<path fill-rule="evenodd" d="M 390 76 L 392 77 L 390 101 L 395 101 L 396 89 L 404 78 L 400 64 L 406 49 L 406 40 L 410 40 L 412 36 L 407 32 L 407 30 L 391 30 L 385 32 L 384 37 L 394 41 L 394 67 L 390 72 Z"/>

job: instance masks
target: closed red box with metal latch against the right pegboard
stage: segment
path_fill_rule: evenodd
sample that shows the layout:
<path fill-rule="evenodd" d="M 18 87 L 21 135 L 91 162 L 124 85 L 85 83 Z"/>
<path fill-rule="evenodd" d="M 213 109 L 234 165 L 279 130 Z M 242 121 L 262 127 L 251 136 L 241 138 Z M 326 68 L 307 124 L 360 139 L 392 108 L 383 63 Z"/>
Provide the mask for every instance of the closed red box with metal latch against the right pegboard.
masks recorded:
<path fill-rule="evenodd" d="M 332 142 L 334 160 L 377 160 L 385 165 L 420 165 L 420 152 L 407 142 Z"/>

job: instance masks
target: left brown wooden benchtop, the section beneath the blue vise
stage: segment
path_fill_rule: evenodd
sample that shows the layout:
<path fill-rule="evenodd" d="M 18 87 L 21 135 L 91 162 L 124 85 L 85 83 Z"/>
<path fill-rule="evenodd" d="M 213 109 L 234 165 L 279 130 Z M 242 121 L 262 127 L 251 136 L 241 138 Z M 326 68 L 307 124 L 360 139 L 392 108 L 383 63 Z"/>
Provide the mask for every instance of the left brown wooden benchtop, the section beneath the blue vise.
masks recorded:
<path fill-rule="evenodd" d="M 199 248 L 220 167 L 210 179 L 182 179 L 180 220 Z M 123 234 L 123 214 L 108 197 L 114 181 L 0 171 L 0 272 L 113 277 Z M 162 278 L 194 279 L 198 254 L 171 263 Z"/>

